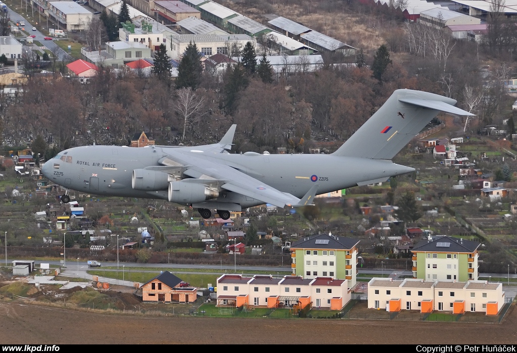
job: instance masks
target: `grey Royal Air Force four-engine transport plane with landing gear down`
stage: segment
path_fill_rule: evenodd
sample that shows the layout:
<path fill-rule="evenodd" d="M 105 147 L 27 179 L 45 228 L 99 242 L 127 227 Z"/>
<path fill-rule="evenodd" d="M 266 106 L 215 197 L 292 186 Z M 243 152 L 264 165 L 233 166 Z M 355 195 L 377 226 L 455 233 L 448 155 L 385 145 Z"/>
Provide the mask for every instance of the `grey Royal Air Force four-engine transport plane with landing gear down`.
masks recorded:
<path fill-rule="evenodd" d="M 270 203 L 312 204 L 316 194 L 387 181 L 414 171 L 392 159 L 439 111 L 473 115 L 437 94 L 399 89 L 329 155 L 231 154 L 236 125 L 219 143 L 196 147 L 82 146 L 43 165 L 45 177 L 90 194 L 169 200 L 203 218 Z M 346 123 L 346 122 L 344 122 Z M 300 199 L 301 198 L 301 199 Z M 70 201 L 68 192 L 61 197 Z"/>

